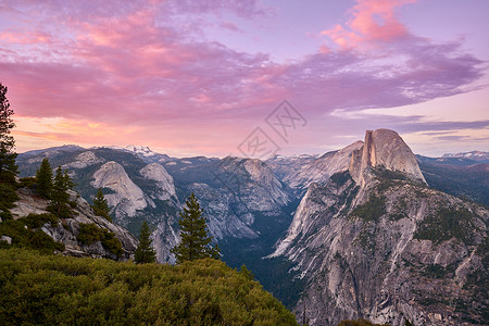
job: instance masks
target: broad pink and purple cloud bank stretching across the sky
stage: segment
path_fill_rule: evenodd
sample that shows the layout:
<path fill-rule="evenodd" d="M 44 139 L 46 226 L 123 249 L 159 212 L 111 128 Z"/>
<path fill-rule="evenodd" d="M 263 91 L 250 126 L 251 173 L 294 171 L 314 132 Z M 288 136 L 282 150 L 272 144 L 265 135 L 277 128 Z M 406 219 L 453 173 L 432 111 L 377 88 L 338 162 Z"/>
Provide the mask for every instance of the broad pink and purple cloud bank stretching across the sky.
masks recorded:
<path fill-rule="evenodd" d="M 73 123 L 33 137 L 98 145 L 139 137 L 151 145 L 146 137 L 214 151 L 239 143 L 285 98 L 325 123 L 337 109 L 392 108 L 464 91 L 481 76 L 481 61 L 460 42 L 411 35 L 394 15 L 408 2 L 359 1 L 346 26 L 324 33 L 340 49 L 324 46 L 279 64 L 209 41 L 199 25 L 181 20 L 225 11 L 254 20 L 267 13 L 258 1 L 22 1 L 16 10 L 36 12 L 34 27 L 0 36 L 0 82 L 18 115 Z M 51 16 L 57 25 L 41 24 Z M 12 45 L 26 35 L 49 36 L 49 48 Z M 375 47 L 363 51 L 361 43 Z M 102 126 L 93 130 L 90 123 Z"/>

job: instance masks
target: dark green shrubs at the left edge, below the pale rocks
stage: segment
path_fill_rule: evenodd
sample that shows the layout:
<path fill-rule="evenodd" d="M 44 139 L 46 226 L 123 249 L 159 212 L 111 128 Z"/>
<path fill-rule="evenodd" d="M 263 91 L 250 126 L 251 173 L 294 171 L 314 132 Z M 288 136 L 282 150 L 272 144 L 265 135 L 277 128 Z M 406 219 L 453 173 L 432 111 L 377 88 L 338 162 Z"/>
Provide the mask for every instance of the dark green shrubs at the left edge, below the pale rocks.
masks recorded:
<path fill-rule="evenodd" d="M 46 223 L 57 224 L 50 214 L 29 214 L 18 220 L 0 223 L 0 236 L 12 238 L 12 247 L 37 249 L 47 253 L 64 251 L 64 244 L 55 242 L 50 236 L 38 229 Z M 27 228 L 26 228 L 27 227 Z"/>

